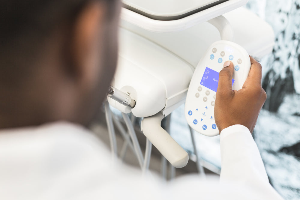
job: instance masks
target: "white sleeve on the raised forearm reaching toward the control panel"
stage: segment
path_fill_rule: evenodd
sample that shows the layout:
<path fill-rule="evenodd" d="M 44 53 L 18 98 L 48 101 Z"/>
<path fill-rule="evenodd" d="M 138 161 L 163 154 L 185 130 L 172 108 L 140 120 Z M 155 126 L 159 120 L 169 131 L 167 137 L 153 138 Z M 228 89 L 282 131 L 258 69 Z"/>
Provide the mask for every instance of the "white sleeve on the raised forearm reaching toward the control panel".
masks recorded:
<path fill-rule="evenodd" d="M 259 150 L 247 127 L 233 125 L 223 129 L 220 148 L 221 183 L 239 184 L 267 199 L 282 199 L 269 184 Z"/>

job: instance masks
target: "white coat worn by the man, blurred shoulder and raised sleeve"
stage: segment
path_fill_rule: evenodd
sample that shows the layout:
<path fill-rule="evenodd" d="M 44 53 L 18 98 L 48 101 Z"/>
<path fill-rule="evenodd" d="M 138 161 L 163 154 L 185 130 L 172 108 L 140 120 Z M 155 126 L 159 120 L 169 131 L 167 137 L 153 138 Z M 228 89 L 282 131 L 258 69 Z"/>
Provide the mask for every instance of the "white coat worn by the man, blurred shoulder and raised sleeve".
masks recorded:
<path fill-rule="evenodd" d="M 221 184 L 198 175 L 164 182 L 113 163 L 106 146 L 78 125 L 1 130 L 0 199 L 281 199 L 246 127 L 228 127 L 220 140 Z"/>

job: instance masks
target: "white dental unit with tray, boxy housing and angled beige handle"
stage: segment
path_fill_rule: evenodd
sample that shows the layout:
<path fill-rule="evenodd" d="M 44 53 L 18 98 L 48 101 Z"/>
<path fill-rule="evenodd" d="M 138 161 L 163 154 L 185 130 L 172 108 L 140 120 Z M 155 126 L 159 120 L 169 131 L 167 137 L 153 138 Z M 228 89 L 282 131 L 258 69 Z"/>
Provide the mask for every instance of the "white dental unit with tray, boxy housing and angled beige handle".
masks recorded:
<path fill-rule="evenodd" d="M 260 60 L 273 49 L 273 30 L 241 7 L 246 0 L 122 2 L 119 59 L 111 85 L 134 100 L 135 105 L 128 106 L 110 97 L 108 103 L 123 116 L 132 113 L 143 118 L 141 130 L 149 143 L 174 167 L 183 167 L 188 154 L 161 127 L 161 120 L 184 103 L 202 55 L 214 41 L 229 40 Z M 135 143 L 134 138 L 132 141 Z M 140 151 L 137 144 L 133 146 Z M 140 158 L 141 166 L 145 160 Z"/>

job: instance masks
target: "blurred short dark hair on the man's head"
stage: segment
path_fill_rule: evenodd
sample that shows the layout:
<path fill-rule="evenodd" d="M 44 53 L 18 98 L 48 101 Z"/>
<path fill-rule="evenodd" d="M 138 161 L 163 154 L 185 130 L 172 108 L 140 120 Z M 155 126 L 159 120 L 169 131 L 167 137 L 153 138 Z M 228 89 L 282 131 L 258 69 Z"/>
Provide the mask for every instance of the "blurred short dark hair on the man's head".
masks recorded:
<path fill-rule="evenodd" d="M 118 0 L 0 0 L 0 82 L 29 73 L 26 63 L 44 40 L 58 27 L 71 29 L 80 11 L 97 1 L 104 3 L 109 23 Z"/>

